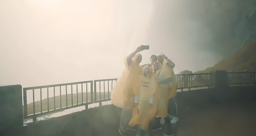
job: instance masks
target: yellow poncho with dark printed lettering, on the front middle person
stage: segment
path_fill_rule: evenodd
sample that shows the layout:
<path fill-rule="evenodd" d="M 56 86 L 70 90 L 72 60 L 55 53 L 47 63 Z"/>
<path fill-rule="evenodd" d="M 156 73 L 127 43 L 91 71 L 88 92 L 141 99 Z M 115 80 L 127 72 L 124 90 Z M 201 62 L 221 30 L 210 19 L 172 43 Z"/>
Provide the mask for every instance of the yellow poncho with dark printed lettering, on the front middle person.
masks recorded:
<path fill-rule="evenodd" d="M 149 68 L 150 72 L 145 77 L 144 69 Z M 140 90 L 135 92 L 138 95 L 138 104 L 135 104 L 133 116 L 129 122 L 130 126 L 136 124 L 141 125 L 141 129 L 147 130 L 149 128 L 149 121 L 155 116 L 157 111 L 157 98 L 160 95 L 160 88 L 157 80 L 154 77 L 153 70 L 150 67 L 143 68 L 142 75 L 140 75 Z M 154 94 L 153 103 L 150 104 L 150 98 Z"/>

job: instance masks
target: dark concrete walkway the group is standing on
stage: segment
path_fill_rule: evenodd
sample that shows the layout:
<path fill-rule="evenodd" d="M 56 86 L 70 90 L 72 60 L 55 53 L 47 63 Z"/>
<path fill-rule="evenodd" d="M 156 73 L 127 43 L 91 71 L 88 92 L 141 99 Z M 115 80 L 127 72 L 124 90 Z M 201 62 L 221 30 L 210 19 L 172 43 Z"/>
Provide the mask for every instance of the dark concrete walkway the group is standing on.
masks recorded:
<path fill-rule="evenodd" d="M 175 136 L 255 136 L 255 104 L 187 104 L 179 111 L 179 121 L 172 125 Z M 121 136 L 118 132 L 120 115 L 121 108 L 113 104 L 101 106 L 25 126 L 24 135 Z M 165 125 L 163 128 L 150 131 L 151 136 L 164 135 Z M 130 136 L 135 133 L 129 131 Z"/>

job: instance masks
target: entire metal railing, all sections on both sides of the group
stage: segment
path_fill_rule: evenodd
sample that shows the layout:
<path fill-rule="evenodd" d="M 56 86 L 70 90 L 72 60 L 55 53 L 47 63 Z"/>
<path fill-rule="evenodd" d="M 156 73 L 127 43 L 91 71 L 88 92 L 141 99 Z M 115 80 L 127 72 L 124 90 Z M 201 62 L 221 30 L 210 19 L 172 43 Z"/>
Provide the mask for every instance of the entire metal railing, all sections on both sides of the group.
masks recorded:
<path fill-rule="evenodd" d="M 256 72 L 254 72 L 253 75 L 254 75 L 253 83 L 255 83 Z M 193 87 L 203 87 L 203 86 L 208 86 L 209 88 L 209 86 L 212 85 L 212 73 L 178 74 L 175 76 L 177 80 L 178 89 L 181 89 L 181 90 L 183 90 L 184 88 L 188 88 L 190 90 L 190 88 L 193 88 Z M 251 78 L 250 72 L 236 72 L 236 73 L 229 72 L 228 73 L 229 84 L 250 83 L 251 82 L 250 78 Z M 231 79 L 232 79 L 232 82 L 231 82 Z M 99 106 L 101 106 L 103 101 L 111 100 L 111 91 L 114 86 L 113 81 L 116 82 L 117 78 L 23 88 L 24 118 L 25 119 L 33 118 L 33 121 L 35 121 L 37 116 L 48 114 L 51 112 L 61 111 L 69 108 L 82 106 L 82 105 L 85 105 L 85 109 L 88 109 L 88 104 L 98 103 L 98 102 L 99 102 Z M 89 83 L 90 85 L 88 85 Z M 81 89 L 82 98 L 81 98 L 81 101 L 78 101 L 78 94 L 80 93 L 80 92 L 78 93 L 78 85 L 80 86 L 80 84 L 81 84 L 80 89 Z M 73 85 L 76 85 L 75 97 L 73 97 Z M 83 85 L 84 85 L 84 88 L 83 88 Z M 86 85 L 86 89 L 85 89 L 85 85 Z M 71 93 L 68 93 L 67 86 L 68 87 L 71 86 Z M 59 87 L 59 95 L 55 96 L 55 89 L 56 88 L 58 89 L 58 87 Z M 65 88 L 64 96 L 62 95 L 62 91 L 61 91 L 63 90 L 62 87 Z M 90 87 L 90 90 L 88 89 L 88 87 Z M 51 88 L 53 88 L 53 94 L 54 94 L 53 100 L 52 100 L 52 97 L 49 98 L 49 89 Z M 36 89 L 40 89 L 40 101 L 35 101 Z M 42 91 L 43 91 L 42 89 L 47 89 L 47 108 L 44 111 L 43 111 L 43 102 L 46 102 L 46 99 L 42 100 Z M 30 115 L 28 115 L 27 90 L 32 91 L 32 94 L 33 94 L 33 108 L 31 108 L 32 103 L 30 103 L 30 108 L 29 108 L 30 109 L 29 113 L 31 113 Z M 46 92 L 44 92 L 44 94 L 45 93 Z M 84 95 L 86 95 L 86 97 Z M 68 96 L 70 99 L 68 99 Z M 57 97 L 57 99 L 60 100 L 60 102 L 58 103 L 59 107 L 57 108 L 56 108 L 55 97 Z M 64 98 L 62 99 L 62 97 Z M 74 100 L 76 100 L 76 104 L 73 104 L 73 98 Z M 51 105 L 52 107 L 50 107 L 52 108 L 52 110 L 49 108 L 49 104 L 50 104 L 49 99 L 50 101 L 54 101 L 53 102 L 54 104 Z M 62 100 L 64 100 L 64 102 L 62 102 Z M 38 107 L 40 107 L 40 109 Z"/>

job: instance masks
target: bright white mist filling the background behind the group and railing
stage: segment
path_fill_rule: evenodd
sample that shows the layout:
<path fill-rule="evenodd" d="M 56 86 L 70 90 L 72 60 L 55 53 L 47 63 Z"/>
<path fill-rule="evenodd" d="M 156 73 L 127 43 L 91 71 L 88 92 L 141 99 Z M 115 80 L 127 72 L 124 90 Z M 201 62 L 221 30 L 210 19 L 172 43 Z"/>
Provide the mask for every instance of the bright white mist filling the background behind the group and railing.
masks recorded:
<path fill-rule="evenodd" d="M 174 72 L 215 65 L 244 46 L 253 0 L 2 0 L 0 85 L 117 78 L 140 45 Z M 247 24 L 247 25 L 246 25 Z"/>

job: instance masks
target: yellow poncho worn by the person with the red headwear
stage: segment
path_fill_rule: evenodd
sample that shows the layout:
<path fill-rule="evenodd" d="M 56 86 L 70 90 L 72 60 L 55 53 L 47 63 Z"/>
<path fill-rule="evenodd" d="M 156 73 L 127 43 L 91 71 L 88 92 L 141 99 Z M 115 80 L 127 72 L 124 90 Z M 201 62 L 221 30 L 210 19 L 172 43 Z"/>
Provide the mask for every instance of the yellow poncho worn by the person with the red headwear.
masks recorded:
<path fill-rule="evenodd" d="M 154 65 L 158 63 L 159 68 L 155 72 Z M 167 69 L 164 69 L 162 65 L 159 62 L 155 62 L 152 66 L 153 72 L 155 72 L 155 78 L 157 81 L 162 81 L 168 78 L 169 75 L 171 75 L 171 72 Z M 160 97 L 158 98 L 157 102 L 157 112 L 155 117 L 161 117 L 165 118 L 168 116 L 167 109 L 168 109 L 168 100 L 169 100 L 169 84 L 159 84 L 159 87 L 161 89 Z"/>

